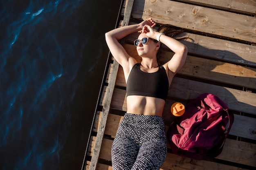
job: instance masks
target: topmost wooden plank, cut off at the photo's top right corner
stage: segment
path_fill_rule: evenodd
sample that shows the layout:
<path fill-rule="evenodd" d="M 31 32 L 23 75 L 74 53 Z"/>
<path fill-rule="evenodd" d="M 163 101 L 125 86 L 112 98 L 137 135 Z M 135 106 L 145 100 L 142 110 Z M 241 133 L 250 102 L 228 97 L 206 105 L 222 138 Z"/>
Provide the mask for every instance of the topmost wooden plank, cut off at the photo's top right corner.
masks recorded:
<path fill-rule="evenodd" d="M 256 2 L 254 0 L 180 0 L 180 2 L 256 15 Z"/>

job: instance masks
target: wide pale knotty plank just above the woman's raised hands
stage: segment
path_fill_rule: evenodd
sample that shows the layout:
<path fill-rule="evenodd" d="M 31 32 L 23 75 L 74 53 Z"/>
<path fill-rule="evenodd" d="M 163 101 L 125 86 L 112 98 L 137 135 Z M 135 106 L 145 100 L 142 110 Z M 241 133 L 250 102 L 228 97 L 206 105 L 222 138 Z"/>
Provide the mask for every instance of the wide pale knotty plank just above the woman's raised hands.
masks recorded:
<path fill-rule="evenodd" d="M 256 18 L 227 11 L 174 2 L 135 0 L 135 19 L 153 18 L 157 23 L 256 42 Z"/>

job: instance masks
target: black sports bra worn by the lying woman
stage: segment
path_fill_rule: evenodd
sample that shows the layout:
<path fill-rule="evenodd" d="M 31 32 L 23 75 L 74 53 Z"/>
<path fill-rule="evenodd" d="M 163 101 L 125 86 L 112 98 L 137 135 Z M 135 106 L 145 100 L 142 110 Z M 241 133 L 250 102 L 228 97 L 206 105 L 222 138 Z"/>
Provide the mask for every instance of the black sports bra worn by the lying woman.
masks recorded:
<path fill-rule="evenodd" d="M 140 63 L 135 64 L 129 74 L 126 92 L 129 95 L 156 97 L 166 100 L 169 81 L 163 66 L 154 73 L 141 71 Z"/>

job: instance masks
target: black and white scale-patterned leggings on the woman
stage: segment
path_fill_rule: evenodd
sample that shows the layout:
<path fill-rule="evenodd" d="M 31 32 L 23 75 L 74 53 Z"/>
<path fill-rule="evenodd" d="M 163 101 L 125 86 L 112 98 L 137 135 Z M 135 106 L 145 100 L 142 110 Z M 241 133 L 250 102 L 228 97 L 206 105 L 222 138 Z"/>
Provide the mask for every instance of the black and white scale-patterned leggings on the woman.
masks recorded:
<path fill-rule="evenodd" d="M 113 170 L 159 170 L 167 154 L 163 118 L 126 113 L 111 154 Z"/>

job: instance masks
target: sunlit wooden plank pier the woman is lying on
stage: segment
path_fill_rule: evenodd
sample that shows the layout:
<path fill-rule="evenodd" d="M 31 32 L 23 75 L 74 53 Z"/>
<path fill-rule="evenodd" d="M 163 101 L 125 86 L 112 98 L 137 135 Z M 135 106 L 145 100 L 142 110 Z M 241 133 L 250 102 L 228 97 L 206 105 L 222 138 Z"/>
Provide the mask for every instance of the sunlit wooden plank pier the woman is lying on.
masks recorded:
<path fill-rule="evenodd" d="M 185 29 L 188 57 L 169 88 L 164 108 L 166 130 L 174 116 L 174 102 L 186 104 L 202 93 L 212 93 L 233 110 L 235 120 L 222 153 L 197 161 L 168 154 L 162 170 L 252 170 L 256 169 L 256 1 L 255 0 L 124 0 L 119 26 L 153 18 L 157 26 L 171 24 Z M 133 41 L 124 48 L 139 62 Z M 173 56 L 164 51 L 158 62 Z M 126 113 L 126 83 L 119 64 L 107 66 L 99 106 L 95 112 L 83 170 L 112 170 L 111 146 Z"/>

